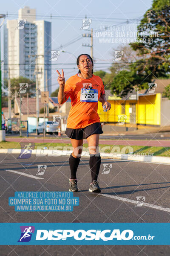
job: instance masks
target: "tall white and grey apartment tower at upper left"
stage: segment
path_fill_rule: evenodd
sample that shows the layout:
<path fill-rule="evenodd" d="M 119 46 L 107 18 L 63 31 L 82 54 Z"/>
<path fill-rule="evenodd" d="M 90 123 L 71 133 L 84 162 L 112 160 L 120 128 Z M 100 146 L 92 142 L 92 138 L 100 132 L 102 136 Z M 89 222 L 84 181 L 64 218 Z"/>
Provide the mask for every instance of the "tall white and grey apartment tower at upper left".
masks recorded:
<path fill-rule="evenodd" d="M 50 95 L 51 22 L 36 20 L 36 10 L 27 6 L 18 11 L 18 19 L 26 19 L 23 29 L 17 28 L 17 20 L 7 20 L 4 25 L 4 77 L 8 78 L 9 69 L 10 78 L 24 76 L 35 81 L 38 55 L 39 88 Z"/>

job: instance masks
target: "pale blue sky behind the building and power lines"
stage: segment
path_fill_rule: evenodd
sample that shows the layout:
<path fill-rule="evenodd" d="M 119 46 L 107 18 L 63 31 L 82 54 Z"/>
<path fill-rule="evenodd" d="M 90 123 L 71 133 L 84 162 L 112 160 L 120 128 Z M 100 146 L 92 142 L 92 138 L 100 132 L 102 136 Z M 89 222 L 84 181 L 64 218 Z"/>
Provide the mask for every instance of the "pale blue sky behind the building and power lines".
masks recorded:
<path fill-rule="evenodd" d="M 57 87 L 57 74 L 55 68 L 61 70 L 64 68 L 65 79 L 77 73 L 75 58 L 73 55 L 64 53 L 64 51 L 71 52 L 75 56 L 81 53 L 90 54 L 90 47 L 83 47 L 82 44 L 90 44 L 90 38 L 80 38 L 83 33 L 89 33 L 90 31 L 80 29 L 82 27 L 82 18 L 91 19 L 89 29 L 93 28 L 94 31 L 102 31 L 103 26 L 107 26 L 108 31 L 112 31 L 112 34 L 105 35 L 105 38 L 111 38 L 109 41 L 101 41 L 101 35 L 99 38 L 94 38 L 94 59 L 96 62 L 111 62 L 113 59 L 113 49 L 119 49 L 119 45 L 127 45 L 125 40 L 119 43 L 115 43 L 115 37 L 125 38 L 129 37 L 127 34 L 123 35 L 124 31 L 135 31 L 136 24 L 139 23 L 140 17 L 149 9 L 152 5 L 152 0 L 8 0 L 3 1 L 1 5 L 1 13 L 10 14 L 7 19 L 16 19 L 18 9 L 24 6 L 36 9 L 37 20 L 51 21 L 52 27 L 52 47 L 51 49 L 60 50 L 60 55 L 55 64 L 62 63 L 62 65 L 53 65 L 52 70 L 52 91 Z M 15 14 L 15 16 L 11 16 Z M 52 17 L 59 16 L 59 18 L 50 19 L 48 16 L 52 14 Z M 64 16 L 71 16 L 66 18 Z M 129 20 L 130 19 L 130 20 Z M 135 19 L 135 20 L 131 20 Z M 127 23 L 129 20 L 129 23 Z M 115 26 L 116 25 L 116 26 Z M 127 27 L 129 26 L 129 27 Z M 116 32 L 117 30 L 117 32 Z M 103 30 L 104 31 L 104 30 Z M 94 32 L 94 36 L 97 35 Z M 61 45 L 65 45 L 75 38 L 75 42 L 68 46 L 59 48 Z M 113 39 L 112 39 L 113 38 Z M 77 41 L 76 41 L 77 40 Z M 100 41 L 99 41 L 100 40 Z M 107 39 L 108 40 L 108 39 Z M 3 29 L 1 29 L 1 60 L 3 59 Z M 70 63 L 70 64 L 69 64 Z M 73 64 L 71 64 L 73 63 Z M 108 70 L 109 64 L 95 64 L 94 70 L 103 69 Z"/>

